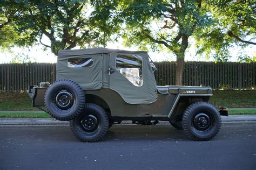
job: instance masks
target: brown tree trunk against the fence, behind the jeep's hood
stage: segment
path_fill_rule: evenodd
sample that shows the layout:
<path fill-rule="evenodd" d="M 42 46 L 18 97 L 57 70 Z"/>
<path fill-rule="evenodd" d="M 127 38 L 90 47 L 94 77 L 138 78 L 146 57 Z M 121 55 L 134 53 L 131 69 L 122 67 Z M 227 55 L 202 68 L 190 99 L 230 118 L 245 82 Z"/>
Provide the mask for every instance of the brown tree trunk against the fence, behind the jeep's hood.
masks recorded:
<path fill-rule="evenodd" d="M 176 73 L 175 73 L 175 85 L 182 86 L 183 70 L 185 67 L 184 54 L 183 56 L 177 57 Z"/>

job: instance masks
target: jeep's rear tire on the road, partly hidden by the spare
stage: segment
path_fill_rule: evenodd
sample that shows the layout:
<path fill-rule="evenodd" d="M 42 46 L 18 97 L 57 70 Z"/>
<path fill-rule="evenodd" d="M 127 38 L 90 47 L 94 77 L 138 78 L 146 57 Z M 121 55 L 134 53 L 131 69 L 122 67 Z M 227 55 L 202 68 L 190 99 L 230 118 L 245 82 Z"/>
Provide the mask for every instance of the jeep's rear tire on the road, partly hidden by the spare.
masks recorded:
<path fill-rule="evenodd" d="M 87 103 L 84 112 L 70 121 L 70 128 L 80 141 L 95 142 L 105 136 L 109 129 L 109 118 L 104 109 Z"/>

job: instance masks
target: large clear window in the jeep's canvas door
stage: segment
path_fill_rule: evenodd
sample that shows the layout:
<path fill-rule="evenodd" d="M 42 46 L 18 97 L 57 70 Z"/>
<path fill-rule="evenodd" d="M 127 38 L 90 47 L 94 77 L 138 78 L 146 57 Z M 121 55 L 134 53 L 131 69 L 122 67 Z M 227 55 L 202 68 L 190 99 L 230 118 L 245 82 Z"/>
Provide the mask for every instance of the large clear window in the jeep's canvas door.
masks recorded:
<path fill-rule="evenodd" d="M 116 68 L 134 86 L 142 86 L 142 56 L 137 54 L 118 54 L 116 56 Z"/>

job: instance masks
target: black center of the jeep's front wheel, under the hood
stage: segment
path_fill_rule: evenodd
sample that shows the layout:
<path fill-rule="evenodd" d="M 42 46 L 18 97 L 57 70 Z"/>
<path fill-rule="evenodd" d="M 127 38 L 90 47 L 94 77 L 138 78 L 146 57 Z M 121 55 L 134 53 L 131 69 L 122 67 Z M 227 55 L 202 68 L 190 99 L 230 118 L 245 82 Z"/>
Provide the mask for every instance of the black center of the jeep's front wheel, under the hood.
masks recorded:
<path fill-rule="evenodd" d="M 211 126 L 211 118 L 205 113 L 200 113 L 194 117 L 193 125 L 197 130 L 207 130 Z"/>

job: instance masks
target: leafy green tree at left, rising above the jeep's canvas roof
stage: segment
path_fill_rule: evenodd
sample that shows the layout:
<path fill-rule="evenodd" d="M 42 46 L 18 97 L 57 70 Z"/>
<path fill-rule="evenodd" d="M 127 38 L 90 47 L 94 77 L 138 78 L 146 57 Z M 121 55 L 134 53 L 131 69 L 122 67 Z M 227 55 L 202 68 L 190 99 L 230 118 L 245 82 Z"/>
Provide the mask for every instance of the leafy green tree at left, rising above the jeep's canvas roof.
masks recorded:
<path fill-rule="evenodd" d="M 55 55 L 59 49 L 88 47 L 91 41 L 95 46 L 105 44 L 118 29 L 107 22 L 114 21 L 110 18 L 113 3 L 105 3 L 104 9 L 95 1 L 1 1 L 0 5 L 18 34 L 13 44 L 31 46 L 39 42 Z M 104 27 L 100 25 L 103 21 Z M 43 36 L 50 43 L 43 42 Z"/>

